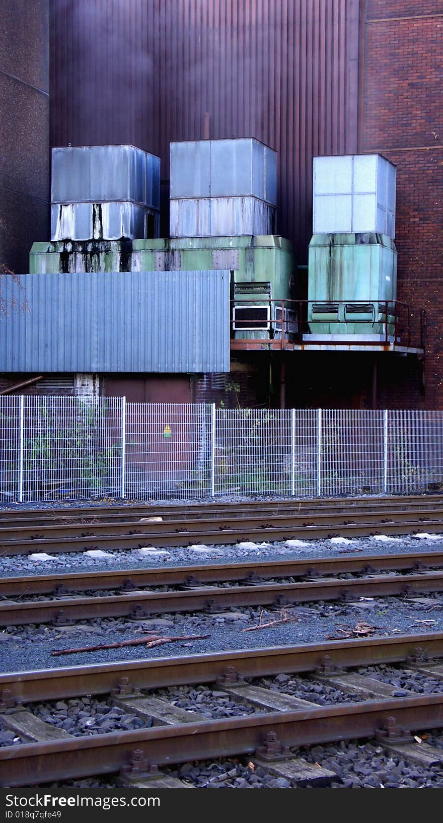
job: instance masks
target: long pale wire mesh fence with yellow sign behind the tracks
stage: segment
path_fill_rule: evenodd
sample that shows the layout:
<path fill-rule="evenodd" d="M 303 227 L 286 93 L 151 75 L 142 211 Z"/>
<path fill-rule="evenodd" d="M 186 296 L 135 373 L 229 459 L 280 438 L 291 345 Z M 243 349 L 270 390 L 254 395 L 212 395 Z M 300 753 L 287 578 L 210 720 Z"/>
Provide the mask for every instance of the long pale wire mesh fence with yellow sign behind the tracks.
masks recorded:
<path fill-rule="evenodd" d="M 0 500 L 407 494 L 443 485 L 443 412 L 0 397 Z"/>

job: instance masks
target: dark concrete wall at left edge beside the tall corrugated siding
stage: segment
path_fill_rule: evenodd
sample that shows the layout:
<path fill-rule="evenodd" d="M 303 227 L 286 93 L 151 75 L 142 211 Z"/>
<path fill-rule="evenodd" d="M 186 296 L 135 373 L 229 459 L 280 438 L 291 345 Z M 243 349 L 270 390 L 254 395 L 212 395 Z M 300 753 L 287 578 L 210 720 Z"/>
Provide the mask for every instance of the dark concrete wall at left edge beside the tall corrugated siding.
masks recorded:
<path fill-rule="evenodd" d="M 2 0 L 0 25 L 0 271 L 28 272 L 48 239 L 48 0 Z"/>

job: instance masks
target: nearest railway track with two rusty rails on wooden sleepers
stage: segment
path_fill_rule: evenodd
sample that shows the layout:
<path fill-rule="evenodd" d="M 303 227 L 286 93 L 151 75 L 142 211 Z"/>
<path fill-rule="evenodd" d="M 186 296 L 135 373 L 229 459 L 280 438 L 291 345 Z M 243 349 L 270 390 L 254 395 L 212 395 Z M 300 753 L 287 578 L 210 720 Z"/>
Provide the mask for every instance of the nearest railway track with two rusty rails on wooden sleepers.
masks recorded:
<path fill-rule="evenodd" d="M 434 633 L 1 675 L 2 724 L 30 741 L 0 749 L 1 783 L 29 786 L 120 773 L 121 783 L 154 787 L 171 784 L 156 774 L 157 766 L 242 755 L 294 776 L 303 768 L 306 774 L 307 763 L 303 766 L 284 747 L 375 736 L 381 748 L 404 760 L 441 763 L 441 750 L 414 743 L 408 732 L 443 727 L 442 657 L 443 634 Z M 381 664 L 393 663 L 401 664 L 408 677 L 421 673 L 428 681 L 441 682 L 441 690 L 438 686 L 425 695 L 406 690 L 395 696 L 389 677 L 377 674 Z M 362 667 L 374 665 L 378 668 L 361 673 Z M 245 681 L 281 677 L 282 672 L 307 676 L 352 699 L 318 705 L 275 690 L 269 682 L 264 687 Z M 208 683 L 217 684 L 215 700 L 230 696 L 248 707 L 247 714 L 208 720 L 178 709 L 164 695 L 153 695 L 164 687 Z M 36 701 L 78 695 L 109 695 L 112 705 L 131 709 L 150 727 L 71 737 L 60 729 L 54 732 L 32 713 Z"/>

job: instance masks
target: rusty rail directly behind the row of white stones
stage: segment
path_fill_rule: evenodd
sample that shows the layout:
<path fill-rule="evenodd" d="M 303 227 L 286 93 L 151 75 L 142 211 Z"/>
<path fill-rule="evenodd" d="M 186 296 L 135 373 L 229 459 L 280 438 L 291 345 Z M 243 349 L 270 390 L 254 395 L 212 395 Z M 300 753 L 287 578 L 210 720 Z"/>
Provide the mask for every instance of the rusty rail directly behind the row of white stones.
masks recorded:
<path fill-rule="evenodd" d="M 341 516 L 341 515 L 340 515 Z M 366 515 L 367 518 L 370 515 Z M 263 518 L 264 520 L 265 518 Z M 272 518 L 267 517 L 267 520 Z M 368 537 L 373 535 L 374 529 L 377 525 L 382 525 L 385 534 L 410 534 L 411 532 L 419 532 L 423 529 L 423 520 L 407 520 L 402 516 L 396 520 L 389 522 L 383 521 L 382 518 L 375 518 L 375 522 L 370 519 L 366 523 L 331 523 L 327 525 L 309 525 L 308 523 L 298 523 L 296 518 L 286 518 L 286 525 L 276 525 L 262 522 L 261 519 L 256 518 L 255 522 L 251 521 L 251 525 L 247 523 L 236 524 L 237 528 L 208 528 L 210 523 L 202 523 L 202 528 L 194 529 L 193 532 L 183 530 L 162 532 L 155 531 L 156 527 L 162 527 L 161 523 L 152 523 L 153 531 L 143 532 L 139 534 L 107 534 L 90 535 L 87 537 L 48 537 L 46 539 L 26 539 L 26 540 L 9 540 L 0 542 L 0 554 L 2 555 L 17 555 L 25 554 L 29 551 L 49 551 L 49 552 L 67 552 L 67 551 L 87 551 L 91 548 L 102 549 L 137 549 L 146 545 L 149 542 L 151 546 L 187 546 L 191 545 L 196 540 L 205 541 L 211 545 L 236 543 L 247 540 L 263 541 L 267 538 L 268 542 L 275 542 L 285 540 L 288 538 L 298 538 L 299 540 L 311 539 L 325 539 L 330 537 Z M 300 518 L 298 518 L 300 519 Z M 257 523 L 258 520 L 258 523 Z M 219 519 L 216 521 L 219 523 Z M 199 523 L 199 521 L 195 521 Z M 426 520 L 427 529 L 432 532 L 443 532 L 443 518 Z M 168 523 L 171 528 L 174 523 Z M 178 523 L 182 527 L 182 523 Z"/>

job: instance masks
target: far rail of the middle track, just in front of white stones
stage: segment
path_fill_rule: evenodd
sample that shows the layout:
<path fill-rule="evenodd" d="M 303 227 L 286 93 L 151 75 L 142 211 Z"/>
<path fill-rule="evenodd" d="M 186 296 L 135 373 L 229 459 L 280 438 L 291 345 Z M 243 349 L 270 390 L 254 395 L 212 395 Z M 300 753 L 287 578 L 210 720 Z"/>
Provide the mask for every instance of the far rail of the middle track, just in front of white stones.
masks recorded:
<path fill-rule="evenodd" d="M 67 574 L 26 574 L 0 579 L 0 597 L 30 594 L 67 594 L 79 591 L 139 588 L 142 586 L 180 586 L 221 583 L 274 577 L 299 577 L 305 574 L 341 574 L 381 570 L 425 570 L 443 565 L 443 551 L 420 551 L 399 555 L 359 555 L 325 557 L 319 560 L 252 560 L 247 563 L 182 565 L 167 569 L 127 569 Z"/>

